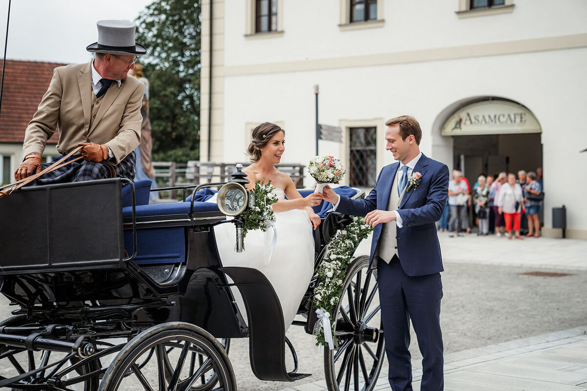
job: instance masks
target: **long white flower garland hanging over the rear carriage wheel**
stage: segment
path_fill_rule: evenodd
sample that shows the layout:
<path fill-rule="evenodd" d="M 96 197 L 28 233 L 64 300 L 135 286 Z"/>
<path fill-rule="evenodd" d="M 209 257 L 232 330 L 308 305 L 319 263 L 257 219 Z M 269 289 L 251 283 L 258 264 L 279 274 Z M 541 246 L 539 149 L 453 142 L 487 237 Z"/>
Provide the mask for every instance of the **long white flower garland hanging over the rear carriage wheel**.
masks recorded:
<path fill-rule="evenodd" d="M 328 244 L 322 262 L 318 266 L 319 283 L 314 288 L 312 305 L 329 312 L 332 318 L 340 295 L 342 283 L 346 277 L 346 268 L 361 240 L 365 239 L 373 228 L 365 223 L 363 217 L 353 217 L 353 222 L 346 229 L 339 230 Z M 319 324 L 319 322 L 317 323 Z M 334 324 L 330 324 L 334 329 Z M 318 326 L 319 327 L 319 326 Z M 333 332 L 334 335 L 334 332 Z M 324 339 L 324 330 L 319 328 L 316 345 L 328 345 Z"/>

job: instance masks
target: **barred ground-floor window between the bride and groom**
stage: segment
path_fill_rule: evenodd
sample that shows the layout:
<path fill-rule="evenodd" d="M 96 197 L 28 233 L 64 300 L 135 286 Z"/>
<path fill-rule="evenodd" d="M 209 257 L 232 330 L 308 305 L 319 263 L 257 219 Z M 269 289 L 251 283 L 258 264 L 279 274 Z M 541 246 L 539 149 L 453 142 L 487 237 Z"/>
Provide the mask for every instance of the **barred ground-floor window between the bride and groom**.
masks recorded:
<path fill-rule="evenodd" d="M 375 127 L 349 128 L 350 186 L 375 186 L 377 165 L 377 130 Z"/>

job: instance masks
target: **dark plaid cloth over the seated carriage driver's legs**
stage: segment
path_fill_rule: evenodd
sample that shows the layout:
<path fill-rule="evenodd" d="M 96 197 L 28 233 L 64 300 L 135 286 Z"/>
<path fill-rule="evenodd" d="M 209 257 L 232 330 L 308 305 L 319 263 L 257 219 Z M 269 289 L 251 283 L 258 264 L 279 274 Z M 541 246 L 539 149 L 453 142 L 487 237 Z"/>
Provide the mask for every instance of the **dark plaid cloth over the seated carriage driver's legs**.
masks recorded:
<path fill-rule="evenodd" d="M 60 158 L 61 157 L 57 157 L 50 163 L 43 163 L 43 169 L 47 168 L 49 165 Z M 133 151 L 130 152 L 130 154 L 127 155 L 127 157 L 124 158 L 119 164 L 114 166 L 116 176 L 119 178 L 127 178 L 133 181 L 136 171 L 135 164 L 136 157 L 134 156 Z M 110 178 L 110 169 L 106 167 L 106 165 L 86 160 L 79 160 L 64 167 L 58 168 L 55 171 L 49 172 L 49 174 L 41 176 L 41 178 L 36 179 L 35 185 L 91 181 L 92 179 L 104 178 Z"/>

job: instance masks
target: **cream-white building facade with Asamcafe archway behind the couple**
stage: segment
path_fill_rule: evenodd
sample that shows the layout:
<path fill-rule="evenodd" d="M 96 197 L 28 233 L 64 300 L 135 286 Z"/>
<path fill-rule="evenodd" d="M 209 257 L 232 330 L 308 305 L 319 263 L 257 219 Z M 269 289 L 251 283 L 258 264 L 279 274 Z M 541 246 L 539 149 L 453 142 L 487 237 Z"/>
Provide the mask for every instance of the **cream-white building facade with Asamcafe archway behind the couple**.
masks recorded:
<path fill-rule="evenodd" d="M 424 154 L 477 176 L 544 168 L 545 236 L 565 205 L 587 239 L 587 2 L 203 0 L 201 159 L 242 161 L 255 125 L 286 130 L 284 162 L 342 142 L 345 184 L 373 186 L 384 123 L 417 118 Z M 308 178 L 306 183 L 311 179 Z"/>

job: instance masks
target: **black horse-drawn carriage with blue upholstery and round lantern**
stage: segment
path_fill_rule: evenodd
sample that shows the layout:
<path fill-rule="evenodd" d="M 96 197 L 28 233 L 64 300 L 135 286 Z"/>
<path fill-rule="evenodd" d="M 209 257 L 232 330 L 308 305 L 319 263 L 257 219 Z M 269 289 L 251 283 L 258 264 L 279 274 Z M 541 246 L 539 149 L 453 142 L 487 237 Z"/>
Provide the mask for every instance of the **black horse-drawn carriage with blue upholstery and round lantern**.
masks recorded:
<path fill-rule="evenodd" d="M 212 186 L 221 186 L 217 203 L 198 200 Z M 215 225 L 234 225 L 242 249 L 239 214 L 248 192 L 238 181 L 181 189 L 183 201 L 148 205 L 143 183 L 102 179 L 22 188 L 0 200 L 0 291 L 15 305 L 14 317 L 0 323 L 0 387 L 235 390 L 231 338 L 249 338 L 259 379 L 308 376 L 296 373 L 295 359 L 295 368 L 286 369 L 286 346 L 294 358 L 295 352 L 269 281 L 254 268 L 223 266 L 218 256 Z M 316 268 L 349 222 L 324 214 Z M 332 316 L 336 347 L 325 348 L 330 390 L 373 389 L 380 372 L 376 272 L 367 267 L 366 256 L 349 264 Z M 294 321 L 310 334 L 318 278 L 299 306 L 305 320 Z"/>

